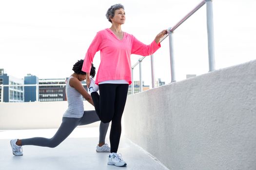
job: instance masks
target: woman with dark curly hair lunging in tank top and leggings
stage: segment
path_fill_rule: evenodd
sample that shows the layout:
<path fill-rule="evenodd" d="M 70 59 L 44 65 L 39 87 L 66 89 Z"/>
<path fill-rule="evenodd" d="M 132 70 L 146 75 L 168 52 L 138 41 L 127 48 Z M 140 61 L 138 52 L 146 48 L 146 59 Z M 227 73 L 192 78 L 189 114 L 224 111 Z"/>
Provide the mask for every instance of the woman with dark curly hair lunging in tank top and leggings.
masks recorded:
<path fill-rule="evenodd" d="M 84 111 L 83 98 L 93 105 L 92 97 L 87 93 L 81 82 L 86 79 L 86 73 L 81 71 L 83 60 L 79 60 L 73 66 L 74 73 L 67 79 L 66 95 L 68 108 L 62 117 L 62 123 L 52 138 L 33 137 L 27 139 L 13 139 L 10 141 L 12 152 L 16 156 L 23 155 L 22 146 L 35 145 L 42 147 L 55 148 L 65 140 L 71 132 L 80 125 L 90 124 L 99 121 L 95 110 Z M 95 76 L 95 67 L 91 65 L 90 75 Z M 110 152 L 110 148 L 105 144 L 105 137 L 109 123 L 100 122 L 99 125 L 99 144 L 97 152 Z"/>

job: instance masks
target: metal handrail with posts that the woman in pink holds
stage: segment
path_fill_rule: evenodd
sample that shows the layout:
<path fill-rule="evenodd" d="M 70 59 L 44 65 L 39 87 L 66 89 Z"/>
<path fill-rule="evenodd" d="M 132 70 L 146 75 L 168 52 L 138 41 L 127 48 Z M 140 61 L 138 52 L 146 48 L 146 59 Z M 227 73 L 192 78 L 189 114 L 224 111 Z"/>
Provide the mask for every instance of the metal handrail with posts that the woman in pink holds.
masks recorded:
<path fill-rule="evenodd" d="M 167 29 L 168 34 L 166 34 L 163 38 L 160 39 L 159 42 L 162 42 L 167 36 L 169 36 L 169 44 L 170 44 L 170 64 L 171 64 L 171 82 L 176 82 L 175 80 L 175 69 L 174 69 L 174 57 L 173 57 L 173 40 L 172 34 L 173 32 L 189 17 L 191 17 L 199 8 L 201 8 L 204 4 L 206 4 L 206 12 L 207 12 L 207 35 L 208 35 L 208 57 L 209 57 L 209 71 L 215 70 L 215 54 L 214 54 L 214 31 L 213 31 L 213 7 L 212 0 L 203 0 L 201 1 L 192 11 L 190 11 L 185 17 L 183 17 L 177 24 L 173 27 Z M 138 59 L 138 62 L 132 66 L 132 74 L 133 69 L 139 64 L 141 69 L 141 62 L 145 58 L 145 56 Z M 153 56 L 151 56 L 151 69 L 153 69 Z M 140 70 L 141 72 L 141 70 Z M 154 78 L 154 70 L 152 72 L 152 79 Z M 132 75 L 133 77 L 133 75 Z M 133 78 L 132 78 L 133 79 Z M 140 75 L 141 80 L 141 75 Z M 133 83 L 133 81 L 132 81 Z M 142 82 L 140 83 L 142 84 Z M 141 85 L 142 86 L 142 85 Z M 152 87 L 154 88 L 154 81 L 152 80 Z M 132 85 L 133 89 L 133 85 Z M 140 88 L 141 89 L 141 88 Z M 132 92 L 133 94 L 133 92 Z"/>

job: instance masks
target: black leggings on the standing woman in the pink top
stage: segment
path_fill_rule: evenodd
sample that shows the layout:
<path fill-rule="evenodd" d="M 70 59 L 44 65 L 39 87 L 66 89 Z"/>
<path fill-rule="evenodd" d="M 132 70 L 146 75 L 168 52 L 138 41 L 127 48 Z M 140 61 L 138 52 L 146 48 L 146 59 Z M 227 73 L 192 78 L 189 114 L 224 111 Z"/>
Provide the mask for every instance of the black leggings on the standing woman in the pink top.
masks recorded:
<path fill-rule="evenodd" d="M 104 122 L 111 122 L 110 145 L 111 153 L 117 153 L 121 136 L 121 119 L 125 106 L 128 84 L 101 84 L 99 93 L 91 93 L 95 110 L 99 119 Z"/>

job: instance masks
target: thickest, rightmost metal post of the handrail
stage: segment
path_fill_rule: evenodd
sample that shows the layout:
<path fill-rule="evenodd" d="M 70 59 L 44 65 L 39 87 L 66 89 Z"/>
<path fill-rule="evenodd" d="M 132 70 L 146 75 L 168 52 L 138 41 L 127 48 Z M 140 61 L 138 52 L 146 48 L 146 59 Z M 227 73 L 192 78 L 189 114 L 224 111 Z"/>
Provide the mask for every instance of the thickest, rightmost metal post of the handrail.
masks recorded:
<path fill-rule="evenodd" d="M 214 23 L 213 23 L 213 2 L 205 0 L 207 15 L 207 36 L 208 36 L 208 57 L 209 71 L 215 70 L 215 52 L 214 52 Z"/>

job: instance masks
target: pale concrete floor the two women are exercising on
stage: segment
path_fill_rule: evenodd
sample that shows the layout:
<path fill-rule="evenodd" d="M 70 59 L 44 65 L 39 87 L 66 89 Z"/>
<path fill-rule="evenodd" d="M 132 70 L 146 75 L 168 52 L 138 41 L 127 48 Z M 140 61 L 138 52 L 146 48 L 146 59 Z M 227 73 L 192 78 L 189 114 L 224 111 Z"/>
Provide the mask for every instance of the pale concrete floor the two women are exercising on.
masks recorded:
<path fill-rule="evenodd" d="M 80 127 L 56 148 L 23 146 L 23 156 L 14 156 L 10 139 L 51 137 L 57 129 L 0 131 L 0 170 L 168 170 L 156 158 L 125 136 L 118 153 L 127 167 L 107 165 L 109 153 L 97 153 L 98 127 Z M 109 132 L 106 143 L 109 144 Z M 110 144 L 109 144 L 110 145 Z"/>

